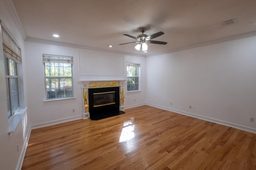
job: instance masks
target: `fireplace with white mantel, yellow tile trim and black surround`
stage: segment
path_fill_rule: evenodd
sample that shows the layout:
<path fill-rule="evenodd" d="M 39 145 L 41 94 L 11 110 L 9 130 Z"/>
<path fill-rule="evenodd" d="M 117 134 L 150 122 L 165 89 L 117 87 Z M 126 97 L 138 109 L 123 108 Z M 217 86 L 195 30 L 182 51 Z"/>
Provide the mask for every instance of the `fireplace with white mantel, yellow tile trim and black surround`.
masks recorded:
<path fill-rule="evenodd" d="M 98 120 L 124 112 L 124 85 L 126 80 L 80 81 L 83 96 L 83 118 Z"/>

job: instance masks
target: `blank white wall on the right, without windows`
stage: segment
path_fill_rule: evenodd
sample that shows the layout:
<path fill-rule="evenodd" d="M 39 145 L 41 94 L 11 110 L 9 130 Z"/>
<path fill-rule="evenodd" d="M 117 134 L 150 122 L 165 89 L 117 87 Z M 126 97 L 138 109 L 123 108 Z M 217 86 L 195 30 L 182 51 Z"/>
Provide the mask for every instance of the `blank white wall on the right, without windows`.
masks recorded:
<path fill-rule="evenodd" d="M 255 47 L 248 37 L 147 57 L 146 102 L 256 133 Z"/>

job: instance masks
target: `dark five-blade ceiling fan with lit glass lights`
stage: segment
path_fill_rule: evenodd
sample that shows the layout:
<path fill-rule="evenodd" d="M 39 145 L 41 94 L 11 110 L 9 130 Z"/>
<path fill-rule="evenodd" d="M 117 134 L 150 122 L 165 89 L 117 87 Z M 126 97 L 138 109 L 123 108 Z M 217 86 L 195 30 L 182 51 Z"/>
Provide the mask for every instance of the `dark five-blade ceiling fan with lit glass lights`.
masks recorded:
<path fill-rule="evenodd" d="M 140 49 L 142 49 L 142 51 L 148 50 L 148 45 L 146 45 L 146 43 L 162 44 L 162 45 L 167 44 L 166 42 L 163 42 L 163 41 L 152 41 L 151 40 L 151 39 L 154 39 L 156 37 L 159 37 L 160 35 L 163 35 L 164 33 L 162 31 L 160 31 L 158 33 L 154 33 L 150 36 L 144 34 L 144 32 L 146 31 L 146 28 L 140 28 L 140 31 L 142 32 L 142 34 L 138 35 L 138 37 L 134 37 L 132 35 L 124 34 L 128 37 L 131 37 L 131 38 L 137 40 L 137 41 L 134 41 L 134 42 L 130 42 L 130 43 L 139 43 L 138 45 L 135 46 L 135 48 L 137 50 L 140 50 Z M 123 44 L 119 44 L 119 45 L 130 44 L 130 43 L 123 43 Z"/>

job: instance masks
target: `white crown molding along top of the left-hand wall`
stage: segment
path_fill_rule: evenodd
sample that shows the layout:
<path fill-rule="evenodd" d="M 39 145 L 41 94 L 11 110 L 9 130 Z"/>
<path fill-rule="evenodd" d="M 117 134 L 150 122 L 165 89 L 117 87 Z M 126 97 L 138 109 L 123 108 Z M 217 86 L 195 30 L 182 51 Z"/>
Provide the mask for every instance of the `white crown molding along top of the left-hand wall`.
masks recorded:
<path fill-rule="evenodd" d="M 22 38 L 25 40 L 27 38 L 26 31 L 20 21 L 20 17 L 16 11 L 16 8 L 14 6 L 14 3 L 12 0 L 3 0 L 6 8 L 10 12 L 10 15 L 12 16 L 12 19 L 14 20 L 15 25 L 17 26 L 18 30 L 20 31 L 20 34 Z"/>

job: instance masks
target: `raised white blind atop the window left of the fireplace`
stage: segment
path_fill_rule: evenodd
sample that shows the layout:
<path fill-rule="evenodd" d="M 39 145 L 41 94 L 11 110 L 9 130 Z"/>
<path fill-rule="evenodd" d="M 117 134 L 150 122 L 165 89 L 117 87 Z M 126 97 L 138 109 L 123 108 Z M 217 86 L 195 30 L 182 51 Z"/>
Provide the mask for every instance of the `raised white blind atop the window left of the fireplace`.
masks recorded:
<path fill-rule="evenodd" d="M 62 55 L 43 54 L 43 63 L 68 63 L 73 64 L 73 57 Z"/>

